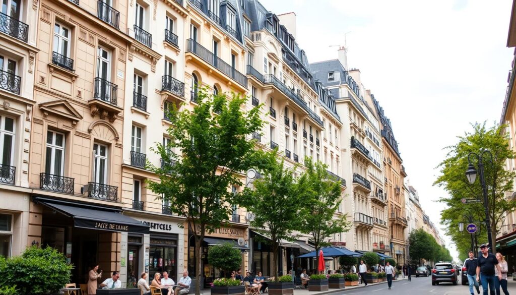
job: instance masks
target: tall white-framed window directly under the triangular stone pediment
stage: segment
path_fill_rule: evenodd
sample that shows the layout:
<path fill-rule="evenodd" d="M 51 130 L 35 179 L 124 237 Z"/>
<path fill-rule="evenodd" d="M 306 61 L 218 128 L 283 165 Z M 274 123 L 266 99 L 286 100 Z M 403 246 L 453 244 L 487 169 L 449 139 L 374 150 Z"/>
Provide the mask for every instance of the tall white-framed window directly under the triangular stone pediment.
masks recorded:
<path fill-rule="evenodd" d="M 62 176 L 65 172 L 65 134 L 46 132 L 45 173 Z"/>

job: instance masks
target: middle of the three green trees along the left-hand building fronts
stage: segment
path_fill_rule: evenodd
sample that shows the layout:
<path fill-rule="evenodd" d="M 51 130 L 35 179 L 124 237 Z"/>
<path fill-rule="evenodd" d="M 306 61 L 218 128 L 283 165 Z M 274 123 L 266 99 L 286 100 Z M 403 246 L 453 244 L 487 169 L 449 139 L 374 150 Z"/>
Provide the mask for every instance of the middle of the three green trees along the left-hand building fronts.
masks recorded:
<path fill-rule="evenodd" d="M 244 190 L 240 203 L 253 215 L 249 224 L 253 230 L 270 237 L 265 242 L 272 247 L 272 275 L 277 282 L 280 241 L 295 241 L 303 206 L 299 188 L 304 185 L 294 178 L 295 167 L 285 168 L 283 160 L 278 162 L 277 151 L 267 162 L 270 166 L 253 182 L 254 188 Z"/>

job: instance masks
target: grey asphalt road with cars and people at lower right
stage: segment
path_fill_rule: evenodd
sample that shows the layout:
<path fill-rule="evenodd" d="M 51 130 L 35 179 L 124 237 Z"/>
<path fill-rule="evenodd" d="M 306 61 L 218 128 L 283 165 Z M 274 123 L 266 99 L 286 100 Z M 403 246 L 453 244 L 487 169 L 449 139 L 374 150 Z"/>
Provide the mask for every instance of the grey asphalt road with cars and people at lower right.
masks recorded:
<path fill-rule="evenodd" d="M 509 277 L 509 280 L 512 280 Z M 508 290 L 510 294 L 516 295 L 516 281 L 508 282 Z M 467 295 L 470 293 L 469 287 L 459 284 L 454 286 L 449 283 L 441 283 L 438 286 L 432 286 L 432 279 L 428 277 L 412 277 L 412 281 L 407 280 L 393 281 L 392 289 L 389 290 L 387 283 L 377 284 L 375 286 L 369 285 L 367 287 L 344 290 L 335 294 L 351 295 L 351 294 L 378 294 L 385 295 L 392 293 L 393 295 L 400 294 L 414 294 L 414 295 Z M 480 294 L 482 294 L 482 287 L 480 287 Z M 502 292 L 503 294 L 503 292 Z M 475 295 L 477 295 L 475 291 Z"/>

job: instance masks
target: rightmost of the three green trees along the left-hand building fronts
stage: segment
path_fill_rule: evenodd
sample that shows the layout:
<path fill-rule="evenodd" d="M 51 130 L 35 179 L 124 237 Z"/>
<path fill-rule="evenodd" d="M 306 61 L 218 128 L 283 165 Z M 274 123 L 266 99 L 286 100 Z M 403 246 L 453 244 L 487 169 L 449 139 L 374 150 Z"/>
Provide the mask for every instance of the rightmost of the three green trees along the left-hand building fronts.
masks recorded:
<path fill-rule="evenodd" d="M 320 161 L 312 162 L 312 158 L 305 157 L 304 165 L 307 170 L 300 176 L 303 184 L 301 190 L 304 209 L 300 219 L 300 231 L 311 236 L 316 253 L 324 246 L 329 246 L 329 238 L 338 232 L 349 230 L 347 215 L 337 215 L 341 204 L 341 181 L 330 180 L 328 165 Z M 319 265 L 319 255 L 315 265 Z"/>

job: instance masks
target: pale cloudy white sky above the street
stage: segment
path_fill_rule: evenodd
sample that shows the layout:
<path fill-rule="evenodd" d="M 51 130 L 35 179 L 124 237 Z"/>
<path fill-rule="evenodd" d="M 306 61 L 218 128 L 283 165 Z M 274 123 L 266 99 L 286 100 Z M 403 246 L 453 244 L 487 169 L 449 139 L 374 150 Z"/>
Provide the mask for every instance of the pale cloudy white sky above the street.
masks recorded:
<path fill-rule="evenodd" d="M 410 184 L 445 235 L 436 200 L 447 194 L 433 186 L 436 167 L 470 123 L 499 122 L 514 52 L 507 48 L 512 1 L 260 2 L 296 13 L 296 40 L 310 63 L 336 59 L 336 45 L 347 45 L 348 67 L 360 69 L 391 119 Z"/>

